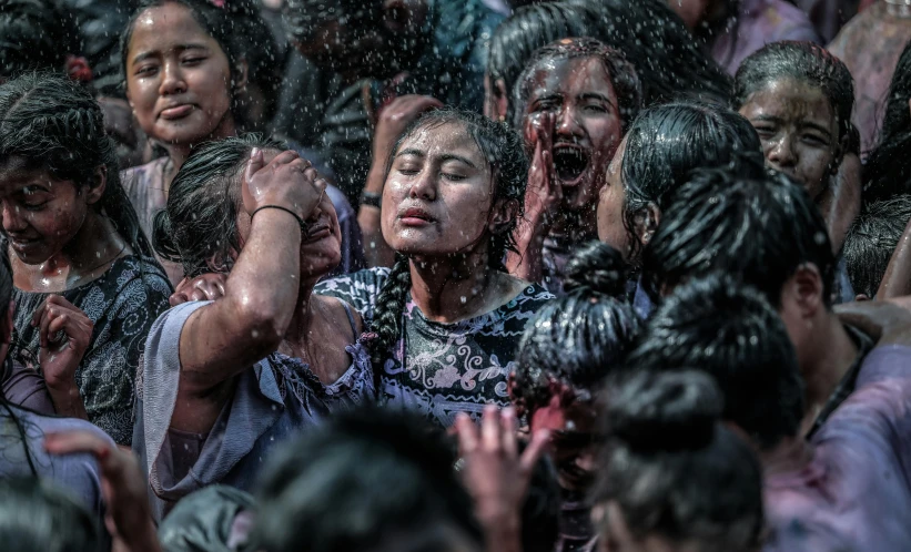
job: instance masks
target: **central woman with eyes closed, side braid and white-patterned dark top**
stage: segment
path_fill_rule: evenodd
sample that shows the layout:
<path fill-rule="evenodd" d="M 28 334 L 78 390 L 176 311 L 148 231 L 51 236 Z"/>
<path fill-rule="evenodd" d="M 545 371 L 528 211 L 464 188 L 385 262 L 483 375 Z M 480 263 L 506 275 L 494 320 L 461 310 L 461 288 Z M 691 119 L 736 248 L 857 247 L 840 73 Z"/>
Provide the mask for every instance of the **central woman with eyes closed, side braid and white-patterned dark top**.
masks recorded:
<path fill-rule="evenodd" d="M 503 264 L 528 178 L 519 136 L 474 113 L 432 111 L 398 139 L 386 167 L 381 218 L 395 265 L 322 283 L 317 293 L 371 323 L 389 406 L 445 427 L 457 412 L 507 406 L 518 339 L 553 297 Z"/>

